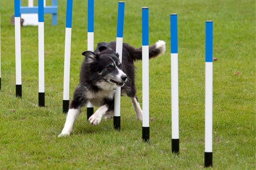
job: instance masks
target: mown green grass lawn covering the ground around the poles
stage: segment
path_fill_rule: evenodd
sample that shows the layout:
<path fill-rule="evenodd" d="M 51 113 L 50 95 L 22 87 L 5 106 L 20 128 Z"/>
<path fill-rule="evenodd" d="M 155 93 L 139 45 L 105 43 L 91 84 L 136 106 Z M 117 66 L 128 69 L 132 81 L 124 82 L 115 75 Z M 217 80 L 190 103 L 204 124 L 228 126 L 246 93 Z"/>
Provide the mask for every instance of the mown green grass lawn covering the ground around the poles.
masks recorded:
<path fill-rule="evenodd" d="M 23 0 L 25 6 L 26 1 Z M 50 0 L 47 0 L 50 4 Z M 150 145 L 122 98 L 121 132 L 111 120 L 93 126 L 86 108 L 68 137 L 58 137 L 62 113 L 66 2 L 58 1 L 58 25 L 45 15 L 46 107 L 37 107 L 38 28 L 21 28 L 22 99 L 15 97 L 14 13 L 1 1 L 0 169 L 174 169 L 204 167 L 205 21 L 214 28 L 213 169 L 256 168 L 256 4 L 254 0 L 127 0 L 123 41 L 142 44 L 141 7 L 149 7 L 149 44 L 166 42 L 165 55 L 150 60 Z M 95 44 L 116 40 L 118 1 L 95 0 Z M 171 153 L 170 13 L 178 14 L 180 156 Z M 70 100 L 87 49 L 87 1 L 73 1 Z M 142 63 L 137 95 L 142 105 Z M 239 75 L 234 75 L 238 72 Z"/>

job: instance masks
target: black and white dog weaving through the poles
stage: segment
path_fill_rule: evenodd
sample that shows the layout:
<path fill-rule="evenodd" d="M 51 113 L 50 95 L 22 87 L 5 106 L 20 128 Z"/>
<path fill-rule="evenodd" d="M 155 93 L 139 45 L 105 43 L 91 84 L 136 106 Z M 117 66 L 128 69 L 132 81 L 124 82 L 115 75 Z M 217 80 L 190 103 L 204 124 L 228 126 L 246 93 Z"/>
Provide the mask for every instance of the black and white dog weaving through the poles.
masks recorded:
<path fill-rule="evenodd" d="M 115 53 L 116 42 L 98 43 L 93 52 L 85 51 L 85 61 L 81 67 L 80 82 L 70 103 L 66 123 L 59 136 L 70 135 L 74 120 L 81 108 L 91 102 L 98 110 L 89 118 L 92 125 L 98 125 L 101 118 L 106 120 L 114 115 L 114 92 L 122 87 L 122 95 L 131 98 L 136 119 L 142 121 L 142 110 L 136 97 L 134 61 L 142 60 L 142 47 L 134 47 L 123 43 L 122 63 Z M 149 46 L 149 58 L 157 57 L 165 52 L 165 42 L 158 41 Z"/>

